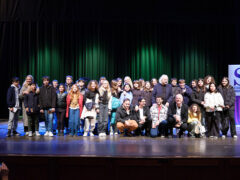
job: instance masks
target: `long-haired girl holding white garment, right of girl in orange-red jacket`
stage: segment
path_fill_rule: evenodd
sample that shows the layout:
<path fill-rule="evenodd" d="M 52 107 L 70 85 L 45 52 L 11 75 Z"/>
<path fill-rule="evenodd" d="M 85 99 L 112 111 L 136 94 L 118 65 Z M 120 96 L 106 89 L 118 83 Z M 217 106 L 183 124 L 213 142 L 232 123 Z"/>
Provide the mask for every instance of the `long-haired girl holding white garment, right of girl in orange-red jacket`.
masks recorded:
<path fill-rule="evenodd" d="M 95 128 L 96 123 L 96 109 L 98 108 L 98 84 L 96 80 L 92 80 L 88 83 L 88 90 L 84 96 L 85 105 L 83 107 L 83 112 L 81 119 L 85 118 L 84 124 L 84 134 L 83 136 L 88 136 L 88 132 L 90 132 L 90 136 L 94 136 L 93 130 Z M 89 128 L 89 125 L 91 126 Z"/>

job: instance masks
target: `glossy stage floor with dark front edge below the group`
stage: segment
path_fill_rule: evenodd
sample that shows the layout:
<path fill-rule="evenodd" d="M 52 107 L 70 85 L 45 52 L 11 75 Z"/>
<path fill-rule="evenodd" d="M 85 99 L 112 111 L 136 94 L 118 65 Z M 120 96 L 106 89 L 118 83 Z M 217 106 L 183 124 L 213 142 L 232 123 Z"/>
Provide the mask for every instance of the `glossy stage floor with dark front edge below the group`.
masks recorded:
<path fill-rule="evenodd" d="M 230 179 L 240 168 L 240 138 L 6 138 L 6 127 L 0 123 L 0 159 L 11 179 Z"/>

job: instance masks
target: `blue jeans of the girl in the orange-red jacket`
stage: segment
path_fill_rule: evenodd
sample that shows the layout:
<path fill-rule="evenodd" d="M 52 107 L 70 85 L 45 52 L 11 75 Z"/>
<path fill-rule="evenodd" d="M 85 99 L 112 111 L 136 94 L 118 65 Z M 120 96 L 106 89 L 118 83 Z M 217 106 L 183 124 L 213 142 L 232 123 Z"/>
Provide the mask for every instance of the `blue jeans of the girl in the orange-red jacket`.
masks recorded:
<path fill-rule="evenodd" d="M 79 127 L 79 109 L 70 109 L 69 110 L 69 122 L 68 127 L 70 129 L 70 134 L 77 134 Z"/>

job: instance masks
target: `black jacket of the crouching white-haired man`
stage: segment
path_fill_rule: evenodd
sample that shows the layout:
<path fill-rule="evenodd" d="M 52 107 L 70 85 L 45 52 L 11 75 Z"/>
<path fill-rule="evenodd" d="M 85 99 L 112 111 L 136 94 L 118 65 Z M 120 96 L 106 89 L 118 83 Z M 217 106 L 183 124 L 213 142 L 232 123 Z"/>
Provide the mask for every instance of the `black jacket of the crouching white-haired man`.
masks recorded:
<path fill-rule="evenodd" d="M 176 103 L 172 103 L 169 108 L 168 108 L 168 117 L 167 117 L 167 121 L 169 123 L 174 124 L 176 122 L 175 118 L 173 117 L 177 112 L 177 107 L 176 107 Z M 183 123 L 187 123 L 188 120 L 188 106 L 184 103 L 182 103 L 182 107 L 181 107 L 181 121 Z"/>

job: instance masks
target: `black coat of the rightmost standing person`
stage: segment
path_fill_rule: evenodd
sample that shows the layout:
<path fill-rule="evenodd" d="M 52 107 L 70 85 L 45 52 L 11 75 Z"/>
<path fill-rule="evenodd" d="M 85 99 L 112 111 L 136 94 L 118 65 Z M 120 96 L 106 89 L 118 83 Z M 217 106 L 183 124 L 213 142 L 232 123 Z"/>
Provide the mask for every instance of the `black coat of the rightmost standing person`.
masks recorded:
<path fill-rule="evenodd" d="M 224 100 L 224 105 L 229 105 L 230 106 L 230 110 L 235 109 L 235 90 L 234 88 L 229 85 L 228 88 L 226 88 L 226 93 L 224 94 L 224 90 L 223 87 L 220 85 L 218 86 L 218 91 L 221 93 L 223 100 Z"/>

